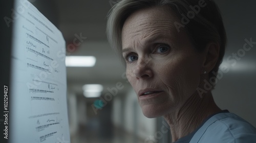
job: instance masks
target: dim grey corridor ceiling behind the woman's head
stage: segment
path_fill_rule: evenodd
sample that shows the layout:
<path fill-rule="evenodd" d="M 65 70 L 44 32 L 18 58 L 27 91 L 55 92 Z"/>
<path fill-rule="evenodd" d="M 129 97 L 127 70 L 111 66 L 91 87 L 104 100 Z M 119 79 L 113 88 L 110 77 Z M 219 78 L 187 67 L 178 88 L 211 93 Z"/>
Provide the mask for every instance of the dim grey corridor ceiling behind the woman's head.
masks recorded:
<path fill-rule="evenodd" d="M 32 4 L 44 7 L 40 11 L 46 15 L 62 32 L 67 43 L 72 43 L 76 38 L 75 34 L 87 37 L 70 55 L 95 56 L 94 67 L 67 67 L 67 79 L 69 91 L 82 94 L 82 85 L 88 83 L 99 83 L 107 87 L 114 87 L 117 82 L 130 86 L 126 79 L 122 78 L 125 71 L 124 66 L 114 55 L 108 41 L 106 40 L 105 26 L 106 15 L 115 1 L 79 1 L 79 0 L 55 0 L 40 1 L 33 0 Z M 226 0 L 216 1 L 219 5 L 226 32 L 228 36 L 226 56 L 236 53 L 243 47 L 244 39 L 255 39 L 255 1 Z M 44 3 L 44 4 L 41 4 Z M 44 5 L 44 6 L 42 6 Z M 54 18 L 53 18 L 54 17 Z M 253 49 L 246 53 L 240 64 L 251 63 L 252 70 L 256 71 L 255 55 Z M 225 59 L 225 58 L 224 58 Z"/>

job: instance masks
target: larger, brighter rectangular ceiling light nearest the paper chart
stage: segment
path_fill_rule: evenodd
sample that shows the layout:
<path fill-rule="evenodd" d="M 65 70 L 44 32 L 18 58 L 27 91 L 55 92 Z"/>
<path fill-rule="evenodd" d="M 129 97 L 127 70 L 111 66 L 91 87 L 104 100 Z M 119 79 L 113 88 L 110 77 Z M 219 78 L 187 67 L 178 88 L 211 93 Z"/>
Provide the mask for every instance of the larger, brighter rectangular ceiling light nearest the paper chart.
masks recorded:
<path fill-rule="evenodd" d="M 94 56 L 66 56 L 66 66 L 94 66 L 96 58 Z"/>

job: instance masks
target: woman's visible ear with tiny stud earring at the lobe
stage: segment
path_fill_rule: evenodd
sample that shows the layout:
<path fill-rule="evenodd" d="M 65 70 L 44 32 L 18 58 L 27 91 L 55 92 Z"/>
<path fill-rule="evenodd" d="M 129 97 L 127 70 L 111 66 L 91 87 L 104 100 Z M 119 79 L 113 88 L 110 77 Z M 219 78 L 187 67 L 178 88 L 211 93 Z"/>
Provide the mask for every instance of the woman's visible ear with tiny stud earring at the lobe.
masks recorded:
<path fill-rule="evenodd" d="M 204 61 L 202 64 L 202 73 L 209 73 L 216 65 L 220 52 L 220 45 L 216 42 L 210 42 L 206 45 L 204 51 Z"/>

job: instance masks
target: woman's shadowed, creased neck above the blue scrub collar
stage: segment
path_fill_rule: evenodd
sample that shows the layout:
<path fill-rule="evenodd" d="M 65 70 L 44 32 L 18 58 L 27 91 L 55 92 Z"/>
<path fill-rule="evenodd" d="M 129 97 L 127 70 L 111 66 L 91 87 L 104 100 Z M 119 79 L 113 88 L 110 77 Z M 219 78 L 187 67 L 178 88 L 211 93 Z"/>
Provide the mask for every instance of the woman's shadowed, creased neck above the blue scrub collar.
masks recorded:
<path fill-rule="evenodd" d="M 164 115 L 170 126 L 172 141 L 193 132 L 205 118 L 220 111 L 221 109 L 215 104 L 210 91 L 202 98 L 196 92 L 179 109 Z"/>

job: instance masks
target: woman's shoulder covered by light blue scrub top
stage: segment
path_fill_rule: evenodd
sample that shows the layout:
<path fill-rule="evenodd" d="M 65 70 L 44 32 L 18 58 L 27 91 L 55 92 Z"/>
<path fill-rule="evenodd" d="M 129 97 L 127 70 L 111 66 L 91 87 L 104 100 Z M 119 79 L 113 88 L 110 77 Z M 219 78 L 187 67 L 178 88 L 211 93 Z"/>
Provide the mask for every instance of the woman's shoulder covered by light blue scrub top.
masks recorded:
<path fill-rule="evenodd" d="M 233 113 L 219 113 L 195 134 L 198 142 L 256 142 L 256 129 Z"/>

